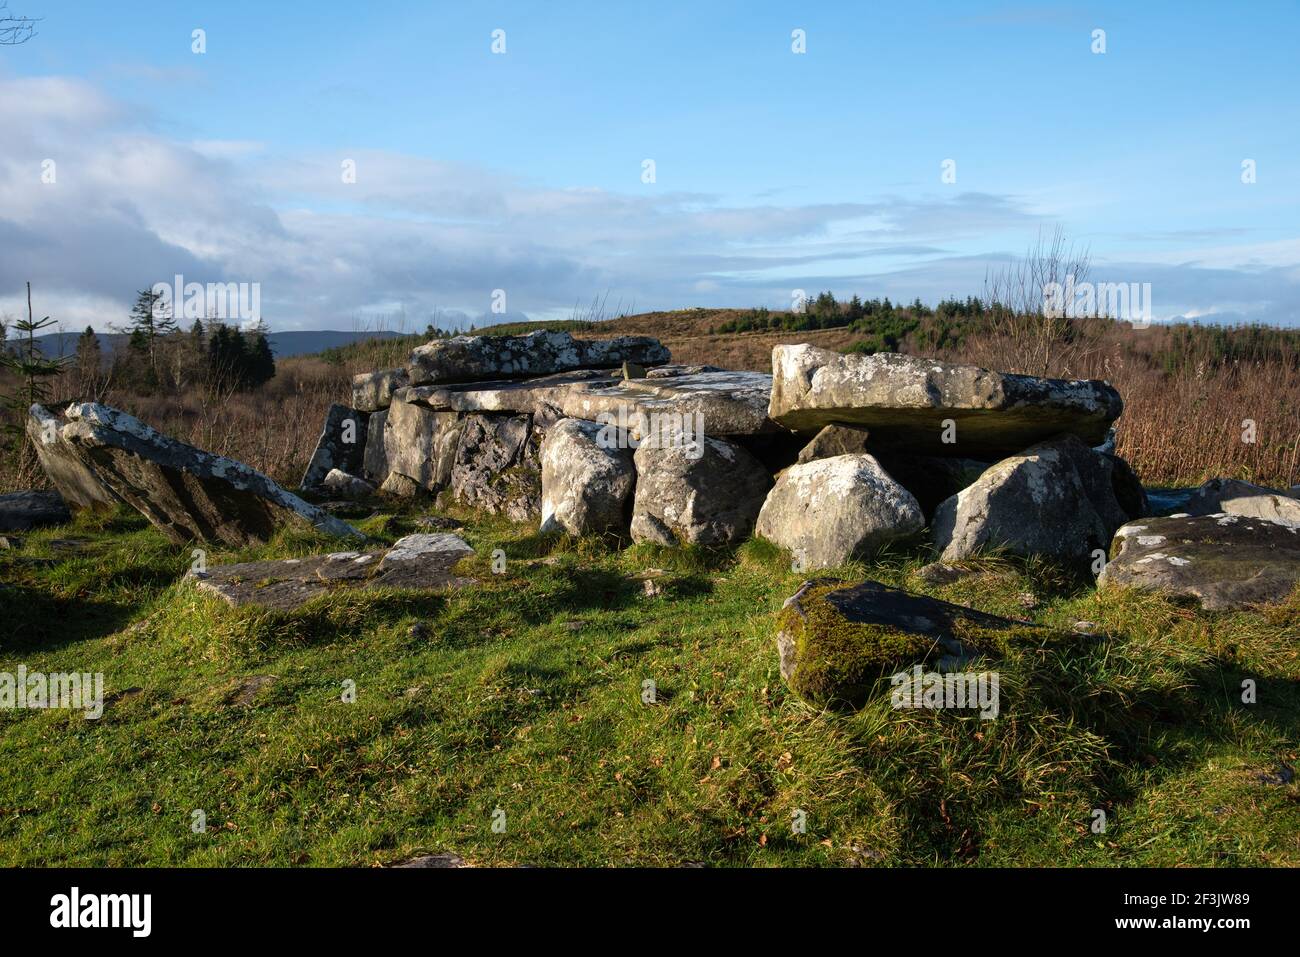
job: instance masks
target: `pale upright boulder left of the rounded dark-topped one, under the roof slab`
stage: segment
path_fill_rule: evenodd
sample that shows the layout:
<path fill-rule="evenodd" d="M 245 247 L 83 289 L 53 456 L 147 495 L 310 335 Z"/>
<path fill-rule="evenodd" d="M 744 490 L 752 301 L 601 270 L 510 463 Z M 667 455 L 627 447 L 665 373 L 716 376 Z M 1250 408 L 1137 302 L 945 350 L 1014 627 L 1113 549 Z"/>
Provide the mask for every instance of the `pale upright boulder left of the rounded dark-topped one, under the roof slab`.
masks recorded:
<path fill-rule="evenodd" d="M 563 419 L 542 441 L 542 532 L 621 532 L 628 527 L 636 468 L 632 450 L 603 441 L 595 423 Z"/>

